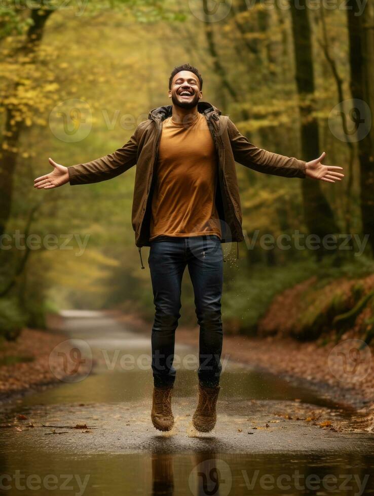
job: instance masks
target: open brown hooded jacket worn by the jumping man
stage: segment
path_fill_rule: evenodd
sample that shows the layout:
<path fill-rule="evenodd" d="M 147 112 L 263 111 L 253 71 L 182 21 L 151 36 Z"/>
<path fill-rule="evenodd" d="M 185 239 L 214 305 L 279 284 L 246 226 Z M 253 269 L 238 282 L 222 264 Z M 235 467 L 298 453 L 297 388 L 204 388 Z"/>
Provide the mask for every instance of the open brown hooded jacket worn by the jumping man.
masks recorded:
<path fill-rule="evenodd" d="M 221 223 L 222 242 L 242 241 L 242 212 L 235 162 L 265 174 L 305 178 L 306 162 L 257 148 L 239 133 L 226 115 L 213 105 L 198 103 L 207 119 L 218 154 L 216 205 Z M 172 106 L 149 112 L 129 141 L 109 155 L 68 168 L 71 185 L 105 181 L 119 176 L 136 164 L 132 227 L 136 246 L 149 246 L 149 220 L 154 186 L 154 170 L 162 121 L 171 115 Z"/>

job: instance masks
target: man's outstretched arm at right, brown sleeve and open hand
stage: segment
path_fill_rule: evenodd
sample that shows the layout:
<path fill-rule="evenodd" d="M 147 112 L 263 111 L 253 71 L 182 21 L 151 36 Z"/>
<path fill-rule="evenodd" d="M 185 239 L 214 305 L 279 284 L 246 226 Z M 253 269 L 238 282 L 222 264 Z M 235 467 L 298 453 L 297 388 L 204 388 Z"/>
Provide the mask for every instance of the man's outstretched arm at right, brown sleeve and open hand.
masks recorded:
<path fill-rule="evenodd" d="M 343 169 L 342 167 L 324 166 L 321 163 L 321 160 L 325 157 L 324 152 L 319 158 L 306 162 L 305 160 L 257 148 L 238 131 L 229 118 L 228 131 L 235 160 L 249 169 L 274 176 L 298 177 L 301 179 L 310 177 L 332 183 L 335 180 L 341 181 L 341 178 L 344 177 L 344 174 L 336 172 L 338 169 Z"/>

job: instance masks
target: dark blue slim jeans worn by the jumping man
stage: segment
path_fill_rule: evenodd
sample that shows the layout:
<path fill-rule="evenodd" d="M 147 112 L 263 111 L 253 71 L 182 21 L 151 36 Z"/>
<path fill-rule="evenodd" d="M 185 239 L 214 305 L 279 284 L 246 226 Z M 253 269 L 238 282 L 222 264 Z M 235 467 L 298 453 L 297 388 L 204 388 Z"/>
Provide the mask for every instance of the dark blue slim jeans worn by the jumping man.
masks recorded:
<path fill-rule="evenodd" d="M 221 295 L 223 253 L 218 236 L 160 236 L 151 241 L 148 264 L 155 303 L 152 328 L 154 385 L 174 383 L 175 329 L 180 317 L 183 272 L 188 266 L 200 325 L 198 378 L 203 386 L 219 383 L 222 351 Z"/>

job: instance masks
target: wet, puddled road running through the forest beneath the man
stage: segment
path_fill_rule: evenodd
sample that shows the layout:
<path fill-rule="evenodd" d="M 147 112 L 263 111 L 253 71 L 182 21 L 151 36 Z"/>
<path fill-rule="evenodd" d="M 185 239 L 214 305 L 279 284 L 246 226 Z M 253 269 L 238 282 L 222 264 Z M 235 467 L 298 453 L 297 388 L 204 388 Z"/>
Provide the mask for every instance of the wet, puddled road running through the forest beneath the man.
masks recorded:
<path fill-rule="evenodd" d="M 224 361 L 216 428 L 198 433 L 197 354 L 177 343 L 175 426 L 160 433 L 149 339 L 98 312 L 63 316 L 54 353 L 72 373 L 3 413 L 25 419 L 0 430 L 0 494 L 374 492 L 374 436 L 350 432 L 349 414 L 312 391 Z"/>

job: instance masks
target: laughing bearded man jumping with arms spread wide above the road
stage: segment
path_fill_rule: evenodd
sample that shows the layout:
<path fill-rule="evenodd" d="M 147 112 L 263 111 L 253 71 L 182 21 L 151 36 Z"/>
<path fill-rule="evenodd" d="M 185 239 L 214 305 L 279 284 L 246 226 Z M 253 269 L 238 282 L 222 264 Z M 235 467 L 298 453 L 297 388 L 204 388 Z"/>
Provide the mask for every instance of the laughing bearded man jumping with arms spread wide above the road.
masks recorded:
<path fill-rule="evenodd" d="M 265 174 L 341 181 L 342 167 L 325 166 L 325 154 L 310 162 L 257 148 L 213 105 L 202 101 L 203 79 L 184 64 L 169 79 L 172 105 L 149 112 L 130 140 L 115 152 L 87 163 L 54 170 L 34 181 L 38 189 L 65 183 L 89 184 L 119 176 L 136 164 L 132 225 L 135 244 L 150 246 L 153 286 L 154 379 L 151 418 L 169 431 L 174 424 L 171 394 L 175 330 L 180 317 L 183 272 L 188 267 L 200 325 L 199 399 L 193 424 L 209 432 L 216 423 L 222 350 L 221 243 L 242 241 L 242 214 L 235 162 Z"/>

